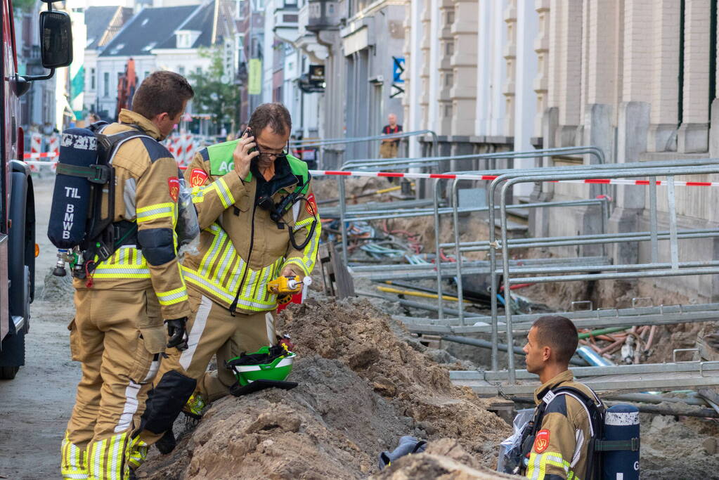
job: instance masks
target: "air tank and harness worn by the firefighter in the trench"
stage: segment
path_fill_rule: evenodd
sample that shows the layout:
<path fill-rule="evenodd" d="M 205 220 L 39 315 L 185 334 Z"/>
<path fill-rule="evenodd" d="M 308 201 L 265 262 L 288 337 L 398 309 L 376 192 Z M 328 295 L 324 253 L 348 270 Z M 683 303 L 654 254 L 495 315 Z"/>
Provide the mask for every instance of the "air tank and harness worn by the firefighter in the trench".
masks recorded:
<path fill-rule="evenodd" d="M 560 395 L 574 397 L 587 412 L 591 437 L 587 448 L 587 471 L 582 478 L 589 480 L 639 479 L 639 412 L 632 405 L 614 405 L 605 409 L 598 398 L 588 397 L 582 390 L 564 386 L 549 390 L 536 407 L 532 420 L 518 435 L 518 445 L 509 450 L 503 465 L 505 473 L 523 473 L 541 429 L 546 407 Z M 521 438 L 521 440 L 520 440 Z M 508 471 L 511 470 L 511 471 Z"/>

